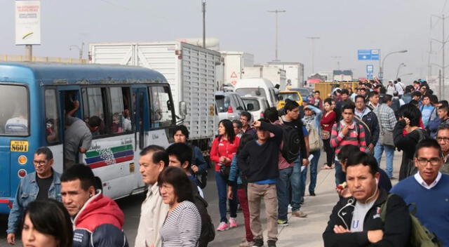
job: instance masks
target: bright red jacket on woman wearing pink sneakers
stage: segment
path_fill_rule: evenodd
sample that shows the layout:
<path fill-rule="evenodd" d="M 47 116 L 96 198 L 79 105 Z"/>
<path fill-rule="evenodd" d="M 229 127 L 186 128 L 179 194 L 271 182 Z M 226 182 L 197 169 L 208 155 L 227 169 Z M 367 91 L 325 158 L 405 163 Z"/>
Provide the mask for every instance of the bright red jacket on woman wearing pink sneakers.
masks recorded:
<path fill-rule="evenodd" d="M 239 148 L 240 138 L 235 137 L 234 142 L 229 142 L 228 140 L 218 140 L 219 137 L 215 138 L 212 142 L 212 147 L 210 148 L 210 160 L 215 162 L 215 171 L 220 171 L 220 157 L 226 156 L 230 160 L 234 157 L 234 154 L 237 152 L 237 148 Z M 231 162 L 225 163 L 226 166 L 231 166 Z"/>

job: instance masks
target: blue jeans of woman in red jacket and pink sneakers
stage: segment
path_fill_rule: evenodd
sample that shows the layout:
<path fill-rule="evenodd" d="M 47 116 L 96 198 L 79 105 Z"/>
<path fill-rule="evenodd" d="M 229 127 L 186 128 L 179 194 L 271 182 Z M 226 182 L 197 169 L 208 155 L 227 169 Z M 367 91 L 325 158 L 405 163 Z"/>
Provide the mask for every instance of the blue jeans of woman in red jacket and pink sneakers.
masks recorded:
<path fill-rule="evenodd" d="M 226 201 L 227 201 L 227 180 L 220 175 L 220 172 L 215 171 L 215 182 L 217 183 L 218 191 L 218 205 L 220 208 L 220 222 L 226 222 Z M 232 186 L 232 194 L 237 194 L 237 186 Z M 232 218 L 237 217 L 237 198 L 229 200 L 230 215 Z"/>

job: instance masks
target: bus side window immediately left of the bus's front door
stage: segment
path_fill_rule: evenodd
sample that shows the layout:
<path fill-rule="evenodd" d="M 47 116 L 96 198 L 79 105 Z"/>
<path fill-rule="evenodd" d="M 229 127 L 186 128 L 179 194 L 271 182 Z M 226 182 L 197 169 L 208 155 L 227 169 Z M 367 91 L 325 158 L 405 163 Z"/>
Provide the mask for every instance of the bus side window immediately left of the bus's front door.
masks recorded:
<path fill-rule="evenodd" d="M 131 124 L 130 109 L 128 104 L 128 88 L 112 87 L 109 88 L 111 95 L 111 132 L 119 134 L 133 131 Z"/>

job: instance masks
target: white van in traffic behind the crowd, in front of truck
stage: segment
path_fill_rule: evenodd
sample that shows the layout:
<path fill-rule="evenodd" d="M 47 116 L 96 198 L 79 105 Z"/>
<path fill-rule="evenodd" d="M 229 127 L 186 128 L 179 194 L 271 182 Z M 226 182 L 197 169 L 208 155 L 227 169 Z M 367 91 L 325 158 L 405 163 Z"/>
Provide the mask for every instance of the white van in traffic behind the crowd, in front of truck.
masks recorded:
<path fill-rule="evenodd" d="M 234 86 L 234 91 L 241 97 L 262 97 L 266 98 L 270 107 L 278 104 L 278 89 L 272 81 L 263 78 L 240 79 Z"/>

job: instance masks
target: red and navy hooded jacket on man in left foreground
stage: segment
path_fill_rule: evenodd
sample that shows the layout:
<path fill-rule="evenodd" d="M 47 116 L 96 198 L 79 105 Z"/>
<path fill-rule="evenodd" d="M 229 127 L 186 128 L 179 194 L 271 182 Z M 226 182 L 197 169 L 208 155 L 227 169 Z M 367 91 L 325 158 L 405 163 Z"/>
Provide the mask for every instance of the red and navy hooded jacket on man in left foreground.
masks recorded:
<path fill-rule="evenodd" d="M 123 233 L 125 216 L 117 203 L 95 194 L 74 218 L 74 247 L 128 246 Z"/>

